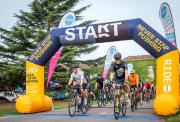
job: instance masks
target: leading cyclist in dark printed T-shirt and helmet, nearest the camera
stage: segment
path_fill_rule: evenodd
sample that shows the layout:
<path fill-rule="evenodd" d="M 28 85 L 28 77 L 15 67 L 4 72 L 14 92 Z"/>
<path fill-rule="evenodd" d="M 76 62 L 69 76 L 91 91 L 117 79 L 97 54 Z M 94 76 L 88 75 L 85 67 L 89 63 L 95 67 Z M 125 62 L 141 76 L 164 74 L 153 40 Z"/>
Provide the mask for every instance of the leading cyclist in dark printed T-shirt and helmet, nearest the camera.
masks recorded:
<path fill-rule="evenodd" d="M 111 65 L 110 69 L 110 82 L 112 83 L 113 89 L 115 89 L 116 83 L 123 83 L 125 84 L 125 81 L 128 80 L 128 69 L 126 62 L 121 60 L 121 53 L 117 52 L 114 54 L 115 62 Z M 114 82 L 114 83 L 113 83 Z M 125 91 L 125 101 L 128 102 L 128 88 L 129 86 L 125 85 L 124 91 Z"/>

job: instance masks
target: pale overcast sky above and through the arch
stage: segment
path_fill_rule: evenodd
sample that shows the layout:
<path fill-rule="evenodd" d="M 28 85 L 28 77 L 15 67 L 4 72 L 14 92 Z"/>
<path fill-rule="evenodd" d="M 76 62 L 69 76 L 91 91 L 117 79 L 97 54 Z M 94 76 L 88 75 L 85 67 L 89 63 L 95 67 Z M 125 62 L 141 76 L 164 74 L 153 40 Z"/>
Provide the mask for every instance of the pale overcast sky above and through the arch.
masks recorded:
<path fill-rule="evenodd" d="M 16 23 L 14 13 L 19 10 L 29 11 L 28 4 L 32 0 L 1 0 L 0 1 L 0 27 L 9 29 Z M 84 20 L 97 20 L 95 23 L 113 22 L 128 19 L 141 18 L 154 28 L 161 35 L 165 36 L 163 26 L 159 18 L 159 8 L 163 2 L 167 2 L 171 7 L 175 24 L 176 40 L 180 49 L 180 1 L 179 0 L 81 0 L 73 9 L 78 9 L 88 4 L 92 4 L 82 13 Z M 179 28 L 178 28 L 179 27 Z M 146 52 L 133 40 L 108 42 L 96 44 L 99 48 L 89 55 L 78 57 L 79 60 L 96 59 L 106 55 L 110 46 L 122 53 L 123 58 L 133 55 L 146 55 Z"/>

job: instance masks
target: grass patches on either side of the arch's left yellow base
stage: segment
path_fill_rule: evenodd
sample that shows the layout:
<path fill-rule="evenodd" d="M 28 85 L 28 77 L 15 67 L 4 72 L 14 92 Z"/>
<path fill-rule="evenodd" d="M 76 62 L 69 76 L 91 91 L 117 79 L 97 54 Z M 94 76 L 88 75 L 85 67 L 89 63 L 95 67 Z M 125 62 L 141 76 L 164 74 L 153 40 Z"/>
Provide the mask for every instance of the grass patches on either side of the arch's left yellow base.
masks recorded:
<path fill-rule="evenodd" d="M 67 101 L 53 101 L 54 109 L 63 109 L 68 107 Z M 15 108 L 15 103 L 0 103 L 0 116 L 8 114 L 18 114 Z"/>

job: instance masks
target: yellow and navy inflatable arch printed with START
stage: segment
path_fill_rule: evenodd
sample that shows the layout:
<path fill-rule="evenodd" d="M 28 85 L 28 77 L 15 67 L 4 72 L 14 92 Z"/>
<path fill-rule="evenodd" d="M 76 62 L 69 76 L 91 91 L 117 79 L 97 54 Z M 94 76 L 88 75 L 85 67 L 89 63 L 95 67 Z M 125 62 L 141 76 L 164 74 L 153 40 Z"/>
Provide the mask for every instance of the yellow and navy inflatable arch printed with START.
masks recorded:
<path fill-rule="evenodd" d="M 157 59 L 154 111 L 158 115 L 175 114 L 180 105 L 178 49 L 141 19 L 52 30 L 26 62 L 26 95 L 17 99 L 17 111 L 51 109 L 52 100 L 44 95 L 44 65 L 61 46 L 130 39 Z"/>

